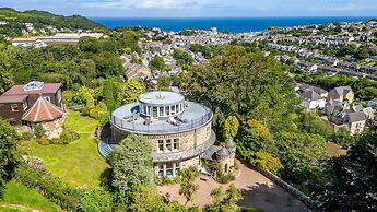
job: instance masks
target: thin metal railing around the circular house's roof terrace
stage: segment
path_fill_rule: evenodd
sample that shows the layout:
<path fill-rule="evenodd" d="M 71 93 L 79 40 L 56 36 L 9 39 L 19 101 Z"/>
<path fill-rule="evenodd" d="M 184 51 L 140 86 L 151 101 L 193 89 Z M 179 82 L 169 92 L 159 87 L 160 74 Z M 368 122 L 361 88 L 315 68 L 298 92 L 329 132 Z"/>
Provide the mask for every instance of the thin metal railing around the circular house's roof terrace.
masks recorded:
<path fill-rule="evenodd" d="M 113 126 L 116 126 L 121 130 L 154 134 L 189 131 L 209 122 L 212 119 L 212 111 L 209 108 L 205 108 L 205 114 L 203 116 L 188 120 L 187 122 L 177 121 L 179 125 L 173 125 L 163 120 L 156 120 L 154 122 L 152 121 L 150 125 L 144 125 L 141 120 L 127 121 L 126 119 L 118 118 L 113 114 L 110 115 L 109 119 Z M 142 117 L 139 118 L 143 119 Z"/>

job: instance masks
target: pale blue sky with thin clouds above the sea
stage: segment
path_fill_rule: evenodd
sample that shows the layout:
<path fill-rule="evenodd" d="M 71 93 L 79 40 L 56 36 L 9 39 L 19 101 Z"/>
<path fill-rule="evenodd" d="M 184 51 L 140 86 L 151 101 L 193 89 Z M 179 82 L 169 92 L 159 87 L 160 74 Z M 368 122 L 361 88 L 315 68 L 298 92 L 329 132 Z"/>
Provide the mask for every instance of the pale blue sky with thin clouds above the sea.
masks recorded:
<path fill-rule="evenodd" d="M 376 0 L 0 0 L 0 7 L 92 17 L 377 16 Z"/>

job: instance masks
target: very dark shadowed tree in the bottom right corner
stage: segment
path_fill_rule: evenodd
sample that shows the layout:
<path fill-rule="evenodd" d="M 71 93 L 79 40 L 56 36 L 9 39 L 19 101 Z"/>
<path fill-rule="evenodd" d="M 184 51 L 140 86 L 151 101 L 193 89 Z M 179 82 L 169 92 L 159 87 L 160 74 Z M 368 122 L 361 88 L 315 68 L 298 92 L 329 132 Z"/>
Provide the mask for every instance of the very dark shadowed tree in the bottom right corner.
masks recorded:
<path fill-rule="evenodd" d="M 328 162 L 330 180 L 315 196 L 325 211 L 377 211 L 376 138 L 365 132 L 346 155 Z"/>

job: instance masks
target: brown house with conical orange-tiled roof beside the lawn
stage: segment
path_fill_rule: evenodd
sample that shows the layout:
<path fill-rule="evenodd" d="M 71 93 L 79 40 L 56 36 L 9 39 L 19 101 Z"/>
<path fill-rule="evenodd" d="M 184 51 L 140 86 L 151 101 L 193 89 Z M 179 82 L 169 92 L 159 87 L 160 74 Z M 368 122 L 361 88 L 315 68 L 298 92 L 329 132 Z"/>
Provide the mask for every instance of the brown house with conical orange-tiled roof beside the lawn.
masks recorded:
<path fill-rule="evenodd" d="M 48 136 L 61 133 L 64 105 L 60 83 L 32 81 L 25 85 L 15 85 L 0 96 L 0 116 L 12 125 L 27 126 L 32 131 L 36 123 L 42 123 Z M 60 119 L 57 121 L 57 119 Z M 60 127 L 61 127 L 60 126 Z M 58 130 L 58 131 L 55 131 Z"/>

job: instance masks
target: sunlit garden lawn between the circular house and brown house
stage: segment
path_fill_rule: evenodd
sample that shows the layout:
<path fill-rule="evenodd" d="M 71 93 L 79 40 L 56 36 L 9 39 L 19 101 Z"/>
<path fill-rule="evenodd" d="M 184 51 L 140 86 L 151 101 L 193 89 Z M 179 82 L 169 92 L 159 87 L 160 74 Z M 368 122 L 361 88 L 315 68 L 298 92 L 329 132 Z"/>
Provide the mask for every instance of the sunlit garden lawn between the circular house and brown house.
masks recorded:
<path fill-rule="evenodd" d="M 33 142 L 32 154 L 44 160 L 44 165 L 72 187 L 96 188 L 102 173 L 109 167 L 97 150 L 97 142 L 91 140 L 98 121 L 78 111 L 69 111 L 66 127 L 81 131 L 80 139 L 62 145 L 40 145 Z"/>

